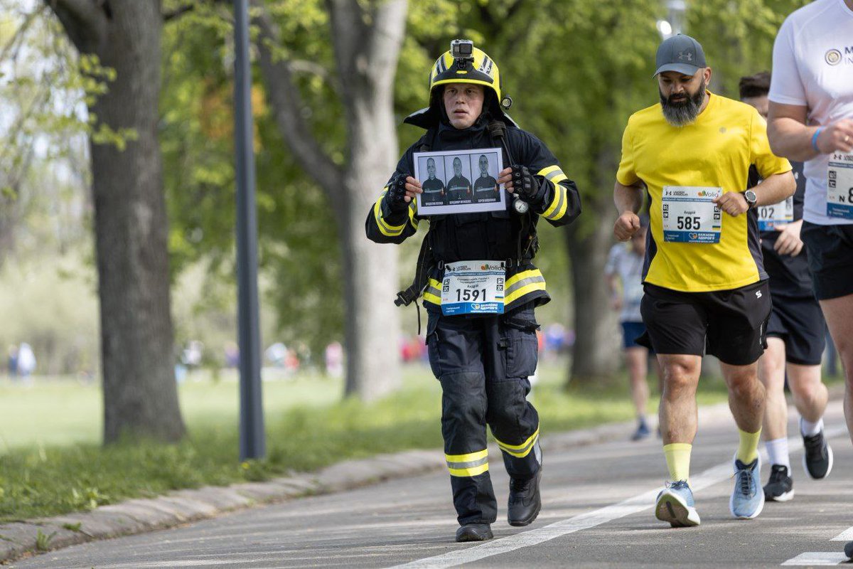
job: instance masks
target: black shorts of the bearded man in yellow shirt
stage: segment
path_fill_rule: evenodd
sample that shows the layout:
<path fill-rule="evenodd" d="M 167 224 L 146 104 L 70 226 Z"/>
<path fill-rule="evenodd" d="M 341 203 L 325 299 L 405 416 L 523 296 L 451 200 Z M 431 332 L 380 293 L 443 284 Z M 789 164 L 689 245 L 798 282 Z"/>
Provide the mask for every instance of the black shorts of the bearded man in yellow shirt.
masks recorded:
<path fill-rule="evenodd" d="M 767 281 L 711 293 L 682 293 L 646 284 L 641 312 L 647 333 L 638 341 L 659 354 L 716 356 L 748 365 L 767 347 Z"/>

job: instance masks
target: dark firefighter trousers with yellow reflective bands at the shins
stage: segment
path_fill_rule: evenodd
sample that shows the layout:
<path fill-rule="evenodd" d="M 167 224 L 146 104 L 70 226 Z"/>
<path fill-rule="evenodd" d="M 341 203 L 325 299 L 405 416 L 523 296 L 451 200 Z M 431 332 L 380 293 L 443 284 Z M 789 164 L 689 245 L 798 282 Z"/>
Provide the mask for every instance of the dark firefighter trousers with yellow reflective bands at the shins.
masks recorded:
<path fill-rule="evenodd" d="M 487 423 L 511 478 L 531 479 L 542 464 L 539 415 L 527 401 L 527 377 L 535 372 L 538 357 L 533 307 L 470 317 L 428 311 L 429 361 L 443 392 L 444 457 L 460 525 L 490 524 L 497 517 Z"/>

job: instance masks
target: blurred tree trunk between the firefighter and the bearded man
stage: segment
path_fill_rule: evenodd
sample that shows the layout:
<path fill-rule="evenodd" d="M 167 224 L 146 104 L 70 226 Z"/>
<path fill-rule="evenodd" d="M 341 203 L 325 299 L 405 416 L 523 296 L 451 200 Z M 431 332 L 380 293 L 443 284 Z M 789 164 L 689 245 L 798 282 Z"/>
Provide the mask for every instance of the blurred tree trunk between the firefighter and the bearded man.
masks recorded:
<path fill-rule="evenodd" d="M 612 172 L 615 168 L 602 165 L 598 171 Z M 575 345 L 567 384 L 609 380 L 619 362 L 618 344 L 614 344 L 613 334 L 616 319 L 610 310 L 604 283 L 604 265 L 613 243 L 616 216 L 612 193 L 603 189 L 606 188 L 604 177 L 595 180 L 595 187 L 602 188 L 601 193 L 583 200 L 582 223 L 572 224 L 566 231 L 566 244 L 572 258 L 575 313 Z M 583 218 L 595 222 L 584 223 Z"/>

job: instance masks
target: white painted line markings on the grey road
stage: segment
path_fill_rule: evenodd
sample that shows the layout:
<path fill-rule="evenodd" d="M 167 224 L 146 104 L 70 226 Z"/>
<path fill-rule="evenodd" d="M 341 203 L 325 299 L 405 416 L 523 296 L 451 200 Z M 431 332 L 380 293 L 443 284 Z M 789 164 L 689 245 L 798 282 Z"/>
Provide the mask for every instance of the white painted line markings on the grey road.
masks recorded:
<path fill-rule="evenodd" d="M 839 434 L 847 433 L 847 427 L 835 427 L 827 429 L 825 436 L 832 438 Z M 788 449 L 798 450 L 803 446 L 803 439 L 792 437 L 788 439 Z M 693 491 L 703 490 L 718 482 L 722 482 L 732 476 L 732 463 L 723 462 L 716 467 L 711 467 L 699 476 L 691 477 L 690 487 Z M 502 537 L 494 541 L 485 542 L 481 545 L 475 545 L 467 549 L 459 549 L 446 554 L 427 557 L 425 559 L 415 560 L 403 565 L 397 565 L 392 569 L 444 569 L 444 567 L 453 567 L 462 565 L 463 563 L 473 563 L 486 557 L 505 554 L 515 549 L 531 547 L 539 543 L 547 542 L 557 537 L 562 537 L 575 531 L 581 531 L 595 527 L 596 525 L 605 524 L 608 521 L 618 520 L 630 514 L 636 514 L 645 509 L 652 508 L 655 498 L 662 487 L 654 490 L 643 492 L 638 496 L 634 496 L 618 502 L 605 508 L 599 508 L 591 512 L 584 512 L 569 518 L 568 520 L 558 521 L 551 525 L 539 528 L 537 530 L 525 531 L 517 533 L 513 536 Z M 837 554 L 825 554 L 837 556 Z M 795 558 L 797 559 L 797 558 Z M 844 557 L 844 560 L 847 560 Z M 786 561 L 787 563 L 787 561 Z M 812 563 L 815 565 L 816 563 Z M 834 565 L 834 564 L 833 564 Z"/>

